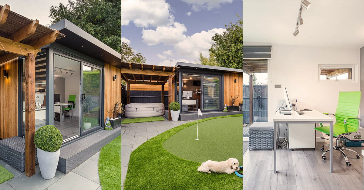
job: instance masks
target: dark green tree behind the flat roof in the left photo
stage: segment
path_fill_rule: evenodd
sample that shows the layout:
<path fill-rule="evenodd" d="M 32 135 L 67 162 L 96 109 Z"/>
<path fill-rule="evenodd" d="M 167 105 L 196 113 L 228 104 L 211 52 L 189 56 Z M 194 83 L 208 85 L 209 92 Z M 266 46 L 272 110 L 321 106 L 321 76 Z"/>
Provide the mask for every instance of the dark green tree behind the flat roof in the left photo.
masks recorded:
<path fill-rule="evenodd" d="M 51 6 L 52 24 L 67 19 L 122 54 L 121 0 L 68 0 Z"/>

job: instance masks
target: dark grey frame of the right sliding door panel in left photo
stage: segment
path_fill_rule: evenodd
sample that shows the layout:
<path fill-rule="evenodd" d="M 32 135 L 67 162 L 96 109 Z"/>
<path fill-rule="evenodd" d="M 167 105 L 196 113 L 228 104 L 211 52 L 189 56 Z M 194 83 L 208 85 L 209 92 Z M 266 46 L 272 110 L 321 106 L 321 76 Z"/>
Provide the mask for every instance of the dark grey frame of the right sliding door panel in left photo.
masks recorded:
<path fill-rule="evenodd" d="M 99 113 L 99 121 L 100 121 L 100 125 L 99 126 L 94 126 L 94 127 L 91 127 L 90 129 L 88 129 L 87 131 L 83 131 L 83 109 L 82 109 L 82 94 L 83 94 L 83 65 L 86 65 L 88 67 L 92 67 L 92 68 L 95 68 L 95 69 L 99 69 L 100 70 L 100 113 Z M 92 133 L 96 130 L 99 130 L 103 127 L 103 121 L 104 121 L 104 118 L 103 118 L 103 100 L 104 100 L 104 94 L 102 93 L 103 92 L 103 82 L 104 82 L 104 69 L 100 66 L 97 66 L 97 65 L 93 65 L 93 64 L 90 64 L 90 63 L 87 63 L 87 62 L 84 62 L 84 61 L 81 61 L 81 64 L 80 64 L 80 136 L 83 136 L 85 134 L 88 134 L 88 133 Z"/>

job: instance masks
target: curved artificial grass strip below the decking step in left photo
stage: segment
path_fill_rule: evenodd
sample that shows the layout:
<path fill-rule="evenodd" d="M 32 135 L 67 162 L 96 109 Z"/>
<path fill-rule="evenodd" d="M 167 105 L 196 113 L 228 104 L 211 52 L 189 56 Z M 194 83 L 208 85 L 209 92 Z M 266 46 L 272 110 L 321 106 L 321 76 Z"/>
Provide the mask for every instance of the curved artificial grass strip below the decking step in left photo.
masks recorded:
<path fill-rule="evenodd" d="M 99 178 L 102 189 L 121 189 L 121 135 L 102 147 Z"/>

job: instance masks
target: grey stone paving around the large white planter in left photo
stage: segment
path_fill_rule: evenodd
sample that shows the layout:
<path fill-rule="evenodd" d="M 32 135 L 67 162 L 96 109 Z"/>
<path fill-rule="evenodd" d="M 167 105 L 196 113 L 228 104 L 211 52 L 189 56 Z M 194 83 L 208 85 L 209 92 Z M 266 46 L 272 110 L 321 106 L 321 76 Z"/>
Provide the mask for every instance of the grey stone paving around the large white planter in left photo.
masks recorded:
<path fill-rule="evenodd" d="M 1 183 L 0 190 L 101 190 L 98 163 L 100 151 L 77 166 L 68 174 L 56 171 L 52 179 L 43 179 L 39 165 L 35 166 L 35 175 L 27 177 L 7 162 L 0 159 L 0 164 L 9 170 L 14 177 Z"/>

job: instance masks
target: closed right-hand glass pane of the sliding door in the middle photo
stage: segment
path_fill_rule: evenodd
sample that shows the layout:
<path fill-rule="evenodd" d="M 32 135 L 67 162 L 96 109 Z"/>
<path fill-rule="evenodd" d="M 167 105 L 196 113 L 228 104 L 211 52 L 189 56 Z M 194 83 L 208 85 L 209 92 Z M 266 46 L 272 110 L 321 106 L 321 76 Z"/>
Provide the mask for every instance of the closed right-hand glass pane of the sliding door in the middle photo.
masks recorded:
<path fill-rule="evenodd" d="M 220 104 L 220 77 L 219 76 L 202 76 L 202 109 L 218 110 Z"/>

